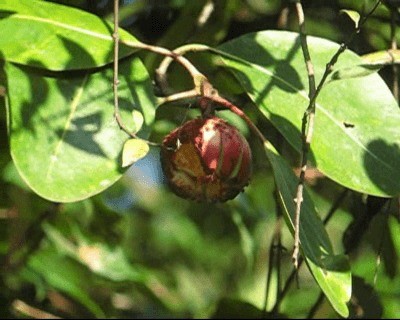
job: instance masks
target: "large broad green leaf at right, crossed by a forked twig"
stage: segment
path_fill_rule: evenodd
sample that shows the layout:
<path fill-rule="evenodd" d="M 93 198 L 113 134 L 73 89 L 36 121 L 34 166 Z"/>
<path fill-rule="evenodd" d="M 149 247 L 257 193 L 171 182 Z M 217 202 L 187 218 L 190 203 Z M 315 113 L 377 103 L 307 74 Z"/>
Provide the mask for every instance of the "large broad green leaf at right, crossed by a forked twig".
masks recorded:
<path fill-rule="evenodd" d="M 338 44 L 307 37 L 317 82 Z M 223 61 L 249 97 L 296 150 L 308 106 L 308 78 L 297 33 L 264 31 L 220 48 Z M 360 65 L 346 51 L 335 68 Z M 377 196 L 400 193 L 400 109 L 390 90 L 372 74 L 332 81 L 318 96 L 310 158 L 334 181 Z"/>

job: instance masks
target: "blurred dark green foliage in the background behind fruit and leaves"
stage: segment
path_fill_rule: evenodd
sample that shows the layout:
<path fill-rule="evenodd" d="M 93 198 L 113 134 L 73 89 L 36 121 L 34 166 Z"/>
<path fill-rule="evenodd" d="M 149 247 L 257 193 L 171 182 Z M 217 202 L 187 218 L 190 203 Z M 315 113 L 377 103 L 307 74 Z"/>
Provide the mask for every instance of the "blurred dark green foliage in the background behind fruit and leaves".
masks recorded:
<path fill-rule="evenodd" d="M 53 2 L 112 17 L 109 0 Z M 196 17 L 206 3 L 125 0 L 120 24 L 143 42 L 171 49 L 185 43 L 216 46 L 253 31 L 298 30 L 288 1 L 215 1 L 212 15 L 199 25 Z M 362 12 L 373 3 L 304 1 L 307 33 L 345 41 L 354 23 L 340 10 Z M 390 12 L 381 5 L 350 49 L 362 55 L 389 47 Z M 161 58 L 139 55 L 153 74 Z M 207 70 L 207 61 L 193 59 L 214 75 L 214 70 Z M 185 88 L 188 79 L 178 68 L 171 70 L 172 87 Z M 385 67 L 380 74 L 391 86 L 392 68 Z M 236 93 L 234 84 L 228 87 Z M 240 94 L 236 98 L 245 99 Z M 160 142 L 196 114 L 189 104 L 161 106 L 150 140 Z M 232 118 L 227 112 L 221 114 Z M 258 117 L 256 108 L 249 114 L 296 167 L 299 156 L 278 131 Z M 233 121 L 247 130 L 238 119 Z M 299 270 L 298 287 L 296 281 L 287 281 L 293 239 L 282 218 L 277 218 L 271 168 L 257 142 L 251 142 L 252 182 L 235 201 L 199 204 L 177 198 L 164 184 L 154 148 L 106 191 L 58 204 L 35 195 L 19 177 L 9 153 L 3 106 L 0 135 L 0 317 L 42 318 L 46 313 L 72 318 L 337 317 L 306 268 Z M 338 203 L 326 228 L 335 251 L 350 257 L 350 316 L 398 316 L 397 200 L 346 191 L 313 169 L 307 184 L 322 218 Z M 277 230 L 282 236 L 278 245 Z M 277 297 L 286 283 L 288 290 Z"/>

